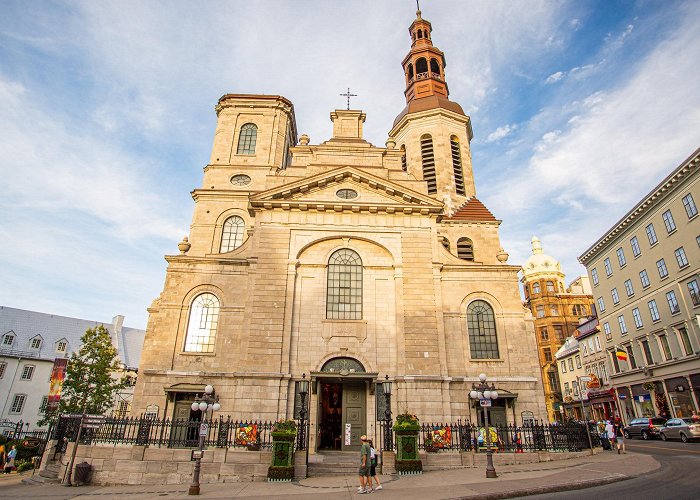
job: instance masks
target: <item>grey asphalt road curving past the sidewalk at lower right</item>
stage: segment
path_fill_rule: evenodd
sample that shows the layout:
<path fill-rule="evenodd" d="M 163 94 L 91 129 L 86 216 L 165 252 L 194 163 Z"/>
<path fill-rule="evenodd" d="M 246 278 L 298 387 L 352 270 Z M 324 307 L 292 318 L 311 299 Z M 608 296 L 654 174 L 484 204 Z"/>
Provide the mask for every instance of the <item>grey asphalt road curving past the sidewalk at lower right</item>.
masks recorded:
<path fill-rule="evenodd" d="M 625 442 L 630 451 L 652 455 L 661 463 L 661 468 L 636 479 L 606 486 L 527 498 L 695 500 L 700 496 L 700 443 L 638 439 L 627 439 Z"/>

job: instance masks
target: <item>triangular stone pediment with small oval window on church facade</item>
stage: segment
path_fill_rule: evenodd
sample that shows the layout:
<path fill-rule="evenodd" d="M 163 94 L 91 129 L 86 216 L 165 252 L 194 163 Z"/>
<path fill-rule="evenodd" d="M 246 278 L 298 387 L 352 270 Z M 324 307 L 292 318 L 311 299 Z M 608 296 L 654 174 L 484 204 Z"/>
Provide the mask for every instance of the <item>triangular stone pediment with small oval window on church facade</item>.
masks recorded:
<path fill-rule="evenodd" d="M 250 198 L 250 204 L 253 210 L 294 208 L 423 215 L 440 214 L 443 210 L 443 204 L 429 196 L 354 167 L 340 167 L 257 193 Z"/>

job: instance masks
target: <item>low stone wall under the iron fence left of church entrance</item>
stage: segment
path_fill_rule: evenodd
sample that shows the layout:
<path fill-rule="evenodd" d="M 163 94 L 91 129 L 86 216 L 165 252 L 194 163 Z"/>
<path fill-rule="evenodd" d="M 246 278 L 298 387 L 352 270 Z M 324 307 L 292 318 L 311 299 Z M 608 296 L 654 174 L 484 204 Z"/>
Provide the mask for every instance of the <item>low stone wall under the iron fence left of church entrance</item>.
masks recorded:
<path fill-rule="evenodd" d="M 64 457 L 71 456 L 73 446 L 68 444 Z M 93 484 L 189 484 L 194 470 L 191 455 L 191 449 L 80 445 L 75 465 L 87 462 L 93 466 Z M 264 481 L 271 460 L 270 451 L 210 448 L 204 451 L 199 481 Z M 68 460 L 64 458 L 64 462 Z M 63 477 L 66 467 L 61 467 L 59 477 Z"/>

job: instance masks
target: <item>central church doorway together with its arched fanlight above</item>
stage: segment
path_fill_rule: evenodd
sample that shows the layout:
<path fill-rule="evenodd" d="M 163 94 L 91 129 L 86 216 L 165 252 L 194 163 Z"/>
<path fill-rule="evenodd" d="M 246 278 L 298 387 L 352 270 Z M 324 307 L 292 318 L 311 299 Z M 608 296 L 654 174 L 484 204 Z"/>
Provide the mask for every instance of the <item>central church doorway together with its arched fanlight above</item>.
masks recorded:
<path fill-rule="evenodd" d="M 319 450 L 360 449 L 367 433 L 367 380 L 371 377 L 354 358 L 328 360 L 318 379 Z"/>

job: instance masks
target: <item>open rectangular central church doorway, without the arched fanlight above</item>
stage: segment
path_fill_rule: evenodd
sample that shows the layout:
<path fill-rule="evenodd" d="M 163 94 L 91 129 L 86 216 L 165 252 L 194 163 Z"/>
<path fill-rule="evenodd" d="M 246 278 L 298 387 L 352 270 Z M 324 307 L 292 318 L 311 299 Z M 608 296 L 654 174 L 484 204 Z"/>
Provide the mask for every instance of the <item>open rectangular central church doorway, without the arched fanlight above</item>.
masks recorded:
<path fill-rule="evenodd" d="M 360 449 L 367 433 L 365 385 L 353 382 L 321 382 L 319 398 L 319 450 Z"/>

